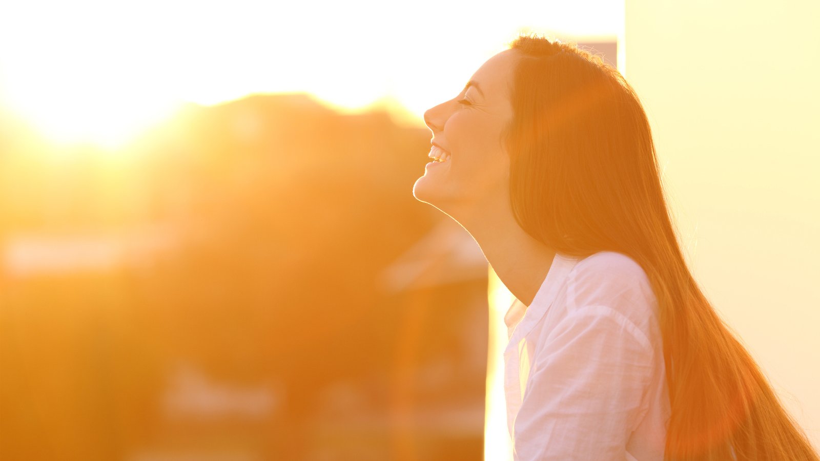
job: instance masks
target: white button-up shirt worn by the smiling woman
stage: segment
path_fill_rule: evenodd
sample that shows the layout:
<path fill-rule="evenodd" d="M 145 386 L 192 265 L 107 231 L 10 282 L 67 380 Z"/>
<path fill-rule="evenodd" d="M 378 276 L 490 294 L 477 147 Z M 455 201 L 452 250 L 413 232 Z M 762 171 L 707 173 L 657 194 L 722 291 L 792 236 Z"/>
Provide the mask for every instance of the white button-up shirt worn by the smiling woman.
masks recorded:
<path fill-rule="evenodd" d="M 556 254 L 504 317 L 515 461 L 663 460 L 670 414 L 658 302 L 633 259 Z"/>

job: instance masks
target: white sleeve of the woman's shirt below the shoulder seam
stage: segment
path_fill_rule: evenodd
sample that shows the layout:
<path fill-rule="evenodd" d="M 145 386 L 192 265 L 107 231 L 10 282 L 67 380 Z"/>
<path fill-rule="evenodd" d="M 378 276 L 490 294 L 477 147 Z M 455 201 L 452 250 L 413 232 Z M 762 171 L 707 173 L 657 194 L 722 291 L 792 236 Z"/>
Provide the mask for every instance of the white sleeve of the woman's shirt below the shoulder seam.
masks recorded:
<path fill-rule="evenodd" d="M 613 308 L 589 305 L 539 349 L 514 422 L 513 459 L 626 459 L 653 370 L 646 336 Z"/>

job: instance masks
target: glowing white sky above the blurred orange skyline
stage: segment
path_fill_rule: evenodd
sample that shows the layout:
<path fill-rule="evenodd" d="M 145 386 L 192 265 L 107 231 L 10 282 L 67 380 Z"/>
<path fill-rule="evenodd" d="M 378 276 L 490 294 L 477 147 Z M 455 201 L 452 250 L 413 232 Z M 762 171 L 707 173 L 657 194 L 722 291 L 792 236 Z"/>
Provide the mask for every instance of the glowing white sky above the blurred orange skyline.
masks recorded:
<path fill-rule="evenodd" d="M 420 123 L 519 31 L 613 38 L 622 23 L 623 0 L 4 2 L 0 105 L 52 139 L 109 145 L 179 103 L 253 93 L 395 102 Z"/>

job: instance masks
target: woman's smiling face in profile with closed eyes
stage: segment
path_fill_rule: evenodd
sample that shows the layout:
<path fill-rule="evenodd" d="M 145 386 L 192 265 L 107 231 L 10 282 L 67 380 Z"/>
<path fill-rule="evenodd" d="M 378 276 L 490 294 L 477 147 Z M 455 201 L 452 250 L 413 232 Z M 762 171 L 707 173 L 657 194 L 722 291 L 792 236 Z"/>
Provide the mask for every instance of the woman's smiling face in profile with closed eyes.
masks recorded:
<path fill-rule="evenodd" d="M 508 49 L 490 57 L 457 97 L 425 112 L 432 141 L 449 157 L 426 165 L 413 185 L 417 200 L 456 217 L 490 200 L 506 203 L 509 158 L 501 134 L 512 118 L 508 85 L 516 53 Z"/>

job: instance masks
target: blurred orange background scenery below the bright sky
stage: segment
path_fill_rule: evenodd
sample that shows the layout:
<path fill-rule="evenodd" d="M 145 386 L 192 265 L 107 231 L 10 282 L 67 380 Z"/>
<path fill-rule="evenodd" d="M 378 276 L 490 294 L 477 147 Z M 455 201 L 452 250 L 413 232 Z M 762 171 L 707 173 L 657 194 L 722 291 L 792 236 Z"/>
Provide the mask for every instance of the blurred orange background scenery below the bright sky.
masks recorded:
<path fill-rule="evenodd" d="M 429 130 L 259 94 L 8 135 L 2 458 L 480 456 L 486 262 L 412 197 Z"/>

